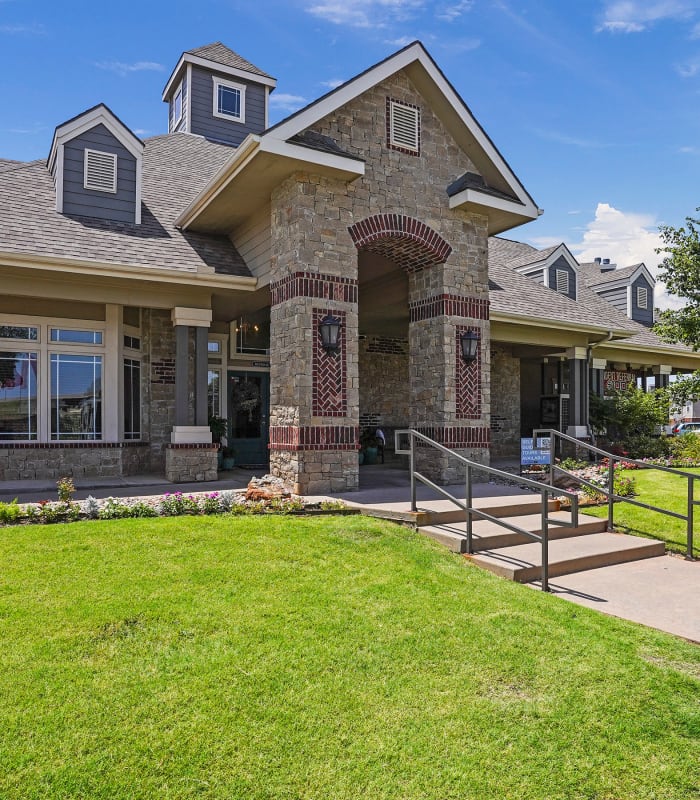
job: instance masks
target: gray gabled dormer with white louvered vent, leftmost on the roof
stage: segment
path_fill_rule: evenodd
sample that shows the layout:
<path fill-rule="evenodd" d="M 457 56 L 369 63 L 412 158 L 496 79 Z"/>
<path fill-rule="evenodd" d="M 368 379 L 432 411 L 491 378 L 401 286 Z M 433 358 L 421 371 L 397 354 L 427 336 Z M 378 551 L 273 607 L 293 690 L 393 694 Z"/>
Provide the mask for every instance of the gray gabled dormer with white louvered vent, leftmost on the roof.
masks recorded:
<path fill-rule="evenodd" d="M 56 211 L 139 225 L 143 148 L 103 104 L 59 125 L 47 162 Z"/>

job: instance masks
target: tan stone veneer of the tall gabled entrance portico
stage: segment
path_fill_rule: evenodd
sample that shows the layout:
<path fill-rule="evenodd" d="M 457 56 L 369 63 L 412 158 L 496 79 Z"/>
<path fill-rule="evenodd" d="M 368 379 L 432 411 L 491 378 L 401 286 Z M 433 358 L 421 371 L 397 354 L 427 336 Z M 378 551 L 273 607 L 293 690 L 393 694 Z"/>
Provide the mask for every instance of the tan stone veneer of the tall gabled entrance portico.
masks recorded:
<path fill-rule="evenodd" d="M 418 105 L 419 155 L 391 150 L 386 141 L 387 98 Z M 270 465 L 302 492 L 355 488 L 359 433 L 358 248 L 381 252 L 411 272 L 409 302 L 410 422 L 466 455 L 488 460 L 490 411 L 486 219 L 449 208 L 446 187 L 476 172 L 405 73 L 400 72 L 314 125 L 365 162 L 364 177 L 349 183 L 297 173 L 272 193 Z M 408 230 L 370 244 L 363 220 L 381 224 L 401 216 Z M 402 223 L 403 224 L 403 223 Z M 439 258 L 426 256 L 437 234 Z M 386 245 L 388 249 L 382 249 Z M 444 263 L 438 263 L 440 258 Z M 427 308 L 429 313 L 425 313 Z M 347 415 L 314 415 L 314 310 L 345 312 L 339 387 Z M 479 416 L 458 418 L 457 394 L 469 391 L 456 367 L 456 328 L 481 332 Z M 438 480 L 454 479 L 440 457 Z M 317 480 L 316 477 L 320 476 Z"/>

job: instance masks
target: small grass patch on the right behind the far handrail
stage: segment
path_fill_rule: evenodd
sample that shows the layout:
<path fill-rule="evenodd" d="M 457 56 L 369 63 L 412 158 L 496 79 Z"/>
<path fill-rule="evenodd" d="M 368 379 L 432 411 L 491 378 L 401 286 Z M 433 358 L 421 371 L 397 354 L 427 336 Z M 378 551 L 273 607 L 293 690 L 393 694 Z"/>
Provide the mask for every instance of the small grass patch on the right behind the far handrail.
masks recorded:
<path fill-rule="evenodd" d="M 700 469 L 684 471 L 700 475 Z M 635 500 L 641 500 L 643 503 L 659 506 L 679 514 L 687 514 L 688 483 L 686 478 L 652 469 L 623 470 L 622 474 L 634 478 Z M 695 499 L 700 500 L 700 481 L 695 487 Z M 586 508 L 586 513 L 607 518 L 608 507 L 606 505 Z M 695 517 L 693 555 L 695 558 L 700 558 L 700 507 L 696 507 Z M 628 503 L 617 503 L 615 505 L 615 527 L 625 533 L 661 539 L 666 542 L 669 550 L 676 553 L 685 553 L 687 549 L 685 520 L 648 511 Z"/>

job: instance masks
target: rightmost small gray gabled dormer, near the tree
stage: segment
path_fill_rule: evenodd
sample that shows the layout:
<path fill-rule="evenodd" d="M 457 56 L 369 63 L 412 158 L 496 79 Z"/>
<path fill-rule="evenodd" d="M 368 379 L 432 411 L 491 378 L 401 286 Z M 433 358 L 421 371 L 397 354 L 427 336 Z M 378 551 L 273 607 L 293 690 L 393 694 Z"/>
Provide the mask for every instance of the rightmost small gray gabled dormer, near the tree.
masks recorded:
<path fill-rule="evenodd" d="M 605 260 L 587 265 L 586 283 L 599 297 L 607 300 L 640 325 L 654 324 L 654 287 L 656 281 L 646 265 L 606 269 Z"/>

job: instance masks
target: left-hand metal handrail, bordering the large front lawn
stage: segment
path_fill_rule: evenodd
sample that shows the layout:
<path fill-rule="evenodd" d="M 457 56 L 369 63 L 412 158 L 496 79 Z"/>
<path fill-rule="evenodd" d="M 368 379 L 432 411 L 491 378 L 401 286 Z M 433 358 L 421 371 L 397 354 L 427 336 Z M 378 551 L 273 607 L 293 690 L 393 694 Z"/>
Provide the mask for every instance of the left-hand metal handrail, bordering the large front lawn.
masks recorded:
<path fill-rule="evenodd" d="M 400 437 L 401 436 L 408 436 L 409 438 L 409 448 L 408 450 L 403 449 L 400 444 Z M 444 486 L 438 486 L 438 484 L 431 481 L 428 477 L 418 472 L 416 469 L 416 446 L 415 442 L 421 442 L 422 444 L 432 447 L 446 455 L 450 456 L 451 458 L 457 459 L 461 464 L 465 467 L 465 490 L 466 490 L 466 497 L 464 502 L 460 500 L 458 497 L 455 497 L 453 494 L 447 491 Z M 418 431 L 413 429 L 405 429 L 405 430 L 397 430 L 394 432 L 394 443 L 395 443 L 395 451 L 399 455 L 407 455 L 409 456 L 410 461 L 410 476 L 411 476 L 411 511 L 417 511 L 417 502 L 416 502 L 416 481 L 420 481 L 425 486 L 429 486 L 431 489 L 434 489 L 436 492 L 441 494 L 447 500 L 450 500 L 454 503 L 458 508 L 466 514 L 466 523 L 467 523 L 467 553 L 472 554 L 474 552 L 473 548 L 473 524 L 474 524 L 474 517 L 478 517 L 479 519 L 486 519 L 490 522 L 495 522 L 497 525 L 506 528 L 507 530 L 513 531 L 514 533 L 521 533 L 524 536 L 527 536 L 530 539 L 534 539 L 538 541 L 542 545 L 542 591 L 548 592 L 549 591 L 549 524 L 550 522 L 555 522 L 557 525 L 568 527 L 568 528 L 575 528 L 578 525 L 578 495 L 574 492 L 567 492 L 564 489 L 557 489 L 555 486 L 551 484 L 542 483 L 541 481 L 533 481 L 530 478 L 523 478 L 520 475 L 512 475 L 510 472 L 504 472 L 503 470 L 496 469 L 495 467 L 487 467 L 485 464 L 479 464 L 477 461 L 471 461 L 465 456 L 460 455 L 459 453 L 455 453 L 454 450 L 450 450 L 449 447 L 445 447 L 444 445 L 439 444 L 438 442 L 430 439 L 428 436 L 425 436 Z M 513 483 L 517 483 L 520 486 L 529 486 L 535 491 L 537 491 L 541 498 L 541 506 L 540 506 L 540 518 L 541 518 L 541 533 L 537 534 L 533 531 L 527 531 L 524 528 L 519 527 L 518 525 L 512 525 L 509 522 L 506 522 L 504 519 L 500 517 L 494 517 L 491 514 L 488 514 L 485 511 L 480 511 L 478 508 L 474 508 L 473 506 L 473 497 L 472 497 L 472 472 L 473 470 L 480 470 L 482 472 L 486 472 L 488 475 L 494 475 L 502 480 L 512 481 Z M 557 497 L 566 497 L 569 502 L 571 503 L 571 521 L 561 521 L 561 520 L 552 520 L 549 517 L 549 495 L 557 496 Z"/>

